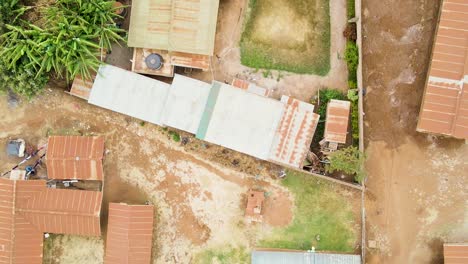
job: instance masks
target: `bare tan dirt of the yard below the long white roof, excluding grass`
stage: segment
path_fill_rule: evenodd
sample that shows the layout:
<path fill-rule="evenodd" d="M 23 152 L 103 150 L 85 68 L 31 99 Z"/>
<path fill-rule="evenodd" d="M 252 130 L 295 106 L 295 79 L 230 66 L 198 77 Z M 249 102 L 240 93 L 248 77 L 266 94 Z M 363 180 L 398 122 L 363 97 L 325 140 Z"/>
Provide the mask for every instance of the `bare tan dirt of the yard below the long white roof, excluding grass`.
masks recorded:
<path fill-rule="evenodd" d="M 157 208 L 154 263 L 189 263 L 194 252 L 216 246 L 250 248 L 262 234 L 292 220 L 289 191 L 266 169 L 251 168 L 259 174 L 240 172 L 250 171 L 244 168 L 242 160 L 230 165 L 233 169 L 224 167 L 210 161 L 219 157 L 202 158 L 209 152 L 199 156 L 196 151 L 186 151 L 187 146 L 172 141 L 160 127 L 142 126 L 138 120 L 91 106 L 60 89 L 48 89 L 35 101 L 14 109 L 8 108 L 4 96 L 0 100 L 2 145 L 8 138 L 16 137 L 38 145 L 51 131 L 105 136 L 103 237 L 109 202 L 150 201 Z M 2 172 L 18 162 L 5 157 L 3 151 L 0 159 Z M 244 223 L 249 188 L 262 189 L 270 195 L 265 205 L 265 222 L 260 226 Z M 47 244 L 46 263 L 102 263 L 102 239 L 57 236 Z M 81 245 L 89 252 L 74 252 L 73 245 Z"/>

